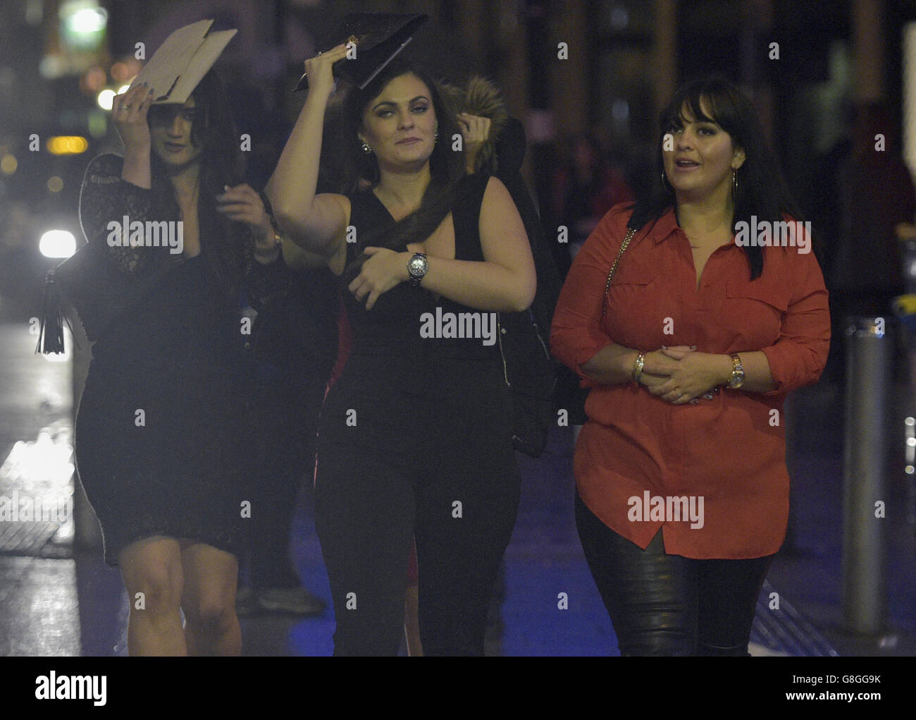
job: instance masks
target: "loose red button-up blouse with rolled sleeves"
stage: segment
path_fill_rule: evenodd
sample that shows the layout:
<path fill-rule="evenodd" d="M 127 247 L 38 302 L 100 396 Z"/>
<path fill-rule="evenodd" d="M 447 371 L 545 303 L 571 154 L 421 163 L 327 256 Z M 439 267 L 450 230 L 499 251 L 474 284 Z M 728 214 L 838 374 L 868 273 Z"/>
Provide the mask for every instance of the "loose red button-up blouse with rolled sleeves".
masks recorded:
<path fill-rule="evenodd" d="M 662 528 L 687 558 L 775 553 L 789 516 L 786 393 L 816 382 L 827 360 L 827 290 L 814 255 L 764 248 L 754 282 L 744 249 L 716 249 L 699 290 L 690 242 L 669 210 L 640 229 L 621 257 L 601 320 L 605 282 L 627 234 L 616 205 L 576 255 L 553 316 L 553 353 L 592 387 L 573 470 L 583 502 L 640 548 Z M 810 248 L 810 245 L 809 245 Z M 762 350 L 777 388 L 724 388 L 714 400 L 672 405 L 642 385 L 601 385 L 580 366 L 612 343 L 651 351 Z"/>

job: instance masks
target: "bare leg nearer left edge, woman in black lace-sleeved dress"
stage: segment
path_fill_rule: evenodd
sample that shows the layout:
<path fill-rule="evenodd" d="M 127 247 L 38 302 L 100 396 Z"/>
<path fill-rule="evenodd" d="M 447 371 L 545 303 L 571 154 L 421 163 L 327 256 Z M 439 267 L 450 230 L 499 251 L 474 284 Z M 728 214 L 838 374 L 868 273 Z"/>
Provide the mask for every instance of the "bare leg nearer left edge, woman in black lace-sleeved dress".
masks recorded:
<path fill-rule="evenodd" d="M 127 652 L 136 655 L 187 655 L 181 629 L 181 553 L 172 537 L 145 537 L 118 558 L 127 589 Z"/>

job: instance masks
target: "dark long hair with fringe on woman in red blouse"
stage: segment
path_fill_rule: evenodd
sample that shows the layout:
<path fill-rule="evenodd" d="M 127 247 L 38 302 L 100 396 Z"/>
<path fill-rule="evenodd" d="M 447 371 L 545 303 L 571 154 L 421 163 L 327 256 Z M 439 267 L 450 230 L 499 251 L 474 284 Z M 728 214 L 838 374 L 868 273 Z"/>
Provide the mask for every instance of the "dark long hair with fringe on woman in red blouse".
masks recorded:
<path fill-rule="evenodd" d="M 703 113 L 703 103 L 712 116 Z M 742 221 L 749 227 L 752 215 L 757 216 L 758 221 L 780 222 L 785 213 L 795 220 L 802 221 L 799 208 L 792 199 L 779 165 L 764 139 L 763 128 L 760 127 L 754 105 L 736 85 L 713 76 L 683 85 L 661 111 L 652 187 L 649 194 L 639 197 L 632 205 L 633 215 L 628 227 L 638 229 L 657 220 L 675 203 L 673 194 L 661 183 L 661 173 L 664 169 L 661 150 L 665 134 L 682 127 L 685 109 L 697 121 L 718 124 L 731 136 L 735 147 L 745 151 L 745 161 L 736 174 L 738 189 L 735 197 L 733 231 L 736 224 Z M 750 277 L 754 280 L 763 272 L 763 248 L 747 244 L 742 249 L 747 254 Z"/>

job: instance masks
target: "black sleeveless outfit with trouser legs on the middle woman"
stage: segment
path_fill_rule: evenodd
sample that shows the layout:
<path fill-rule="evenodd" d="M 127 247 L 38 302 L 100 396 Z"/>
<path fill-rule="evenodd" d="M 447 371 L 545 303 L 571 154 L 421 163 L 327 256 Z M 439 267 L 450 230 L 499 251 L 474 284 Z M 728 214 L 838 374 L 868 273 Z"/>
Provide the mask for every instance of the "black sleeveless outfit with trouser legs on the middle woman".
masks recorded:
<path fill-rule="evenodd" d="M 456 260 L 483 260 L 485 177 L 453 212 Z M 356 237 L 394 222 L 371 191 L 351 199 Z M 370 243 L 371 244 L 371 243 Z M 348 260 L 358 250 L 350 245 Z M 519 475 L 496 314 L 401 282 L 372 310 L 344 291 L 354 346 L 322 408 L 315 524 L 339 655 L 392 655 L 416 538 L 428 655 L 480 655 L 490 587 L 518 510 Z M 491 316 L 488 338 L 428 338 L 425 313 Z M 485 326 L 481 326 L 483 328 Z M 486 326 L 489 329 L 489 324 Z"/>

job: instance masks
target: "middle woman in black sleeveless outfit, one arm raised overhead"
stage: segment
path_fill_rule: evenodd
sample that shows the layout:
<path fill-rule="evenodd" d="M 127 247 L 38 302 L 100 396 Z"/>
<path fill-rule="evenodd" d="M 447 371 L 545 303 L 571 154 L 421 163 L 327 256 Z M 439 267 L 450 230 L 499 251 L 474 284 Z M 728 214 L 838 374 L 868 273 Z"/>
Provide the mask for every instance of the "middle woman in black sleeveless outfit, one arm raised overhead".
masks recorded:
<path fill-rule="evenodd" d="M 505 185 L 462 179 L 455 118 L 397 60 L 344 104 L 334 150 L 351 160 L 345 194 L 315 194 L 332 64 L 345 52 L 306 61 L 309 96 L 267 184 L 279 225 L 349 291 L 354 347 L 322 408 L 315 485 L 334 653 L 398 652 L 415 537 L 424 653 L 480 655 L 519 493 L 489 323 L 531 304 L 534 263 Z M 480 319 L 477 337 L 429 322 L 463 313 Z"/>

